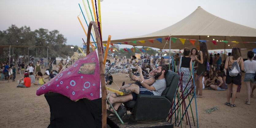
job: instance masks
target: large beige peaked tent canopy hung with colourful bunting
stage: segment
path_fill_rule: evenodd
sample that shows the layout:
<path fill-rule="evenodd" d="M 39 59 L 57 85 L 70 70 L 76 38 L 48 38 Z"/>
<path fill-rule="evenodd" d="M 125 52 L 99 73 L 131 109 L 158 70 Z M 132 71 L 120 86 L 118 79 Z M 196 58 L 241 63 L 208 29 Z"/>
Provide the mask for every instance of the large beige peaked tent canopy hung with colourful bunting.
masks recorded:
<path fill-rule="evenodd" d="M 199 40 L 206 42 L 209 50 L 256 47 L 255 28 L 224 20 L 208 13 L 200 6 L 189 16 L 167 28 L 143 36 L 111 40 L 111 43 L 169 49 L 169 36 L 171 36 L 171 49 L 184 47 L 199 49 Z"/>

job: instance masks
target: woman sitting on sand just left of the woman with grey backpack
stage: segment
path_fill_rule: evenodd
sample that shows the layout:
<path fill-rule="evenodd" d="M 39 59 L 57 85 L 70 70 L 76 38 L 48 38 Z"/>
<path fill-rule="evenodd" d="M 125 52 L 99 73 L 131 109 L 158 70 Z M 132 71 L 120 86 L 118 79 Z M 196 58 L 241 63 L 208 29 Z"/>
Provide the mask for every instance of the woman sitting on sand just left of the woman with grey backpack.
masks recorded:
<path fill-rule="evenodd" d="M 222 72 L 217 72 L 217 85 L 210 85 L 210 87 L 214 90 L 217 90 L 217 91 L 225 91 L 226 89 L 226 84 L 224 83 L 224 80 L 223 80 L 223 74 Z"/>

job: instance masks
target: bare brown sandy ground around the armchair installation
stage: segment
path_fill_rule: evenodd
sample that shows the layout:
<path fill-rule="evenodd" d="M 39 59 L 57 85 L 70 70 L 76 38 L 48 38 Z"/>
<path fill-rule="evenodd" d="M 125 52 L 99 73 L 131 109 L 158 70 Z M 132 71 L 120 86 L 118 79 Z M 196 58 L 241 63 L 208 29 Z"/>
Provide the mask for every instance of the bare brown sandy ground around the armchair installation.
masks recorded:
<path fill-rule="evenodd" d="M 36 96 L 38 85 L 30 88 L 17 88 L 17 80 L 20 74 L 16 74 L 16 81 L 0 81 L 0 127 L 37 127 L 45 128 L 50 123 L 50 110 L 44 95 Z M 108 85 L 110 88 L 118 89 L 122 82 L 132 83 L 126 74 L 114 74 L 115 83 Z M 118 85 L 118 86 L 117 86 Z M 204 98 L 197 98 L 197 111 L 199 127 L 255 127 L 256 125 L 256 96 L 251 98 L 251 105 L 246 105 L 246 88 L 243 82 L 241 92 L 237 94 L 235 104 L 231 108 L 224 105 L 226 102 L 226 91 L 204 90 Z M 186 99 L 186 104 L 189 102 Z M 220 110 L 211 114 L 205 114 L 204 110 L 217 106 Z M 196 122 L 195 101 L 192 101 L 194 119 Z M 190 123 L 193 125 L 191 111 L 189 110 Z M 182 127 L 186 120 L 182 122 Z M 178 125 L 178 124 L 177 124 Z M 195 126 L 192 126 L 195 127 Z"/>

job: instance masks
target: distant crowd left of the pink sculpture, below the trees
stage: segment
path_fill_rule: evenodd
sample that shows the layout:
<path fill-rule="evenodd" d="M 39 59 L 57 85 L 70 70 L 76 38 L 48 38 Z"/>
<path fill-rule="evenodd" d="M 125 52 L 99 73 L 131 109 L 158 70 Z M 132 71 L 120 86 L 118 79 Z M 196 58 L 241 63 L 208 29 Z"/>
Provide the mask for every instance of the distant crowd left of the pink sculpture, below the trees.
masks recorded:
<path fill-rule="evenodd" d="M 34 65 L 32 62 L 28 65 L 25 65 L 24 62 L 17 62 L 17 69 L 15 67 L 14 63 L 9 64 L 9 61 L 0 62 L 0 81 L 15 81 L 16 78 L 16 72 L 21 74 L 22 78 L 20 80 L 17 80 L 18 86 L 17 87 L 23 87 L 28 88 L 33 85 L 44 85 L 45 81 L 44 79 L 52 79 L 63 68 L 63 61 L 60 61 L 59 64 L 56 66 L 55 70 L 52 70 L 53 64 L 52 61 L 49 62 L 48 66 L 42 66 L 42 61 L 37 61 L 36 65 Z M 47 68 L 48 67 L 48 68 Z M 42 69 L 46 68 L 45 73 L 42 72 Z M 23 76 L 24 75 L 24 76 Z M 44 78 L 44 75 L 46 77 Z M 37 82 L 38 81 L 38 82 Z"/>

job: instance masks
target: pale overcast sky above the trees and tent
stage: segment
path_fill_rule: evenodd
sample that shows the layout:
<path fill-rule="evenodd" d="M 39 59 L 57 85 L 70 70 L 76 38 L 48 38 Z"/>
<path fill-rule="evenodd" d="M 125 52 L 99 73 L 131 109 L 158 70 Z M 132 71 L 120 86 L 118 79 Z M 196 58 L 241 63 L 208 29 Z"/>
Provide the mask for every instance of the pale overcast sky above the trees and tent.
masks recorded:
<path fill-rule="evenodd" d="M 0 0 L 0 30 L 11 24 L 30 26 L 32 31 L 56 29 L 67 38 L 67 44 L 81 46 L 86 36 L 77 19 L 81 12 L 78 3 L 89 23 L 82 0 Z M 117 40 L 161 30 L 187 17 L 197 6 L 225 20 L 256 28 L 256 0 L 104 0 L 101 2 L 103 40 L 108 35 Z M 87 31 L 82 14 L 79 17 Z"/>

